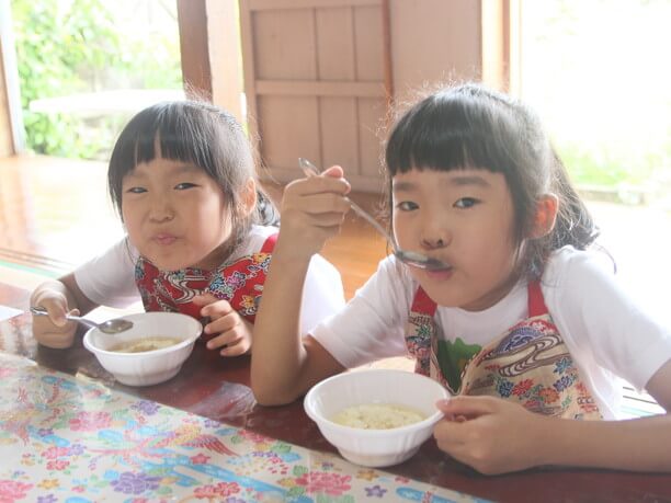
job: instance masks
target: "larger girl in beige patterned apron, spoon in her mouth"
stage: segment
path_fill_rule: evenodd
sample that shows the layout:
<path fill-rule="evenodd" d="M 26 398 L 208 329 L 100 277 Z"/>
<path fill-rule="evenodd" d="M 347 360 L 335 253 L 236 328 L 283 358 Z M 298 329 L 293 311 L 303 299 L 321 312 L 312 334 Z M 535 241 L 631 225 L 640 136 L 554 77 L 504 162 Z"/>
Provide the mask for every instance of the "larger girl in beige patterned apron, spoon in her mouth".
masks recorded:
<path fill-rule="evenodd" d="M 477 84 L 422 100 L 386 145 L 398 247 L 303 336 L 310 258 L 350 209 L 340 167 L 289 184 L 254 331 L 252 390 L 286 403 L 333 374 L 409 354 L 454 397 L 441 449 L 484 473 L 541 465 L 671 471 L 671 416 L 614 421 L 622 377 L 671 410 L 671 328 L 614 276 L 537 117 Z"/>

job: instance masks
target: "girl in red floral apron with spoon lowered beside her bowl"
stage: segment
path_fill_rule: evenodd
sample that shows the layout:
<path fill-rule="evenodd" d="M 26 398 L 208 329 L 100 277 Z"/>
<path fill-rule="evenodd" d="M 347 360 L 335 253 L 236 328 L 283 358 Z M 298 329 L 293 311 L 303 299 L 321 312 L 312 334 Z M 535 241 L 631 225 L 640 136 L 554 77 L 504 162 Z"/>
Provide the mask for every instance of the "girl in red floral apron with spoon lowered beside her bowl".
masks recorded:
<path fill-rule="evenodd" d="M 271 261 L 278 218 L 258 185 L 251 146 L 238 122 L 204 102 L 167 102 L 139 112 L 121 133 L 107 171 L 127 237 L 58 281 L 31 306 L 36 340 L 69 347 L 66 316 L 141 297 L 147 311 L 203 321 L 207 347 L 246 353 Z M 316 255 L 306 271 L 302 333 L 344 305 L 340 274 Z"/>

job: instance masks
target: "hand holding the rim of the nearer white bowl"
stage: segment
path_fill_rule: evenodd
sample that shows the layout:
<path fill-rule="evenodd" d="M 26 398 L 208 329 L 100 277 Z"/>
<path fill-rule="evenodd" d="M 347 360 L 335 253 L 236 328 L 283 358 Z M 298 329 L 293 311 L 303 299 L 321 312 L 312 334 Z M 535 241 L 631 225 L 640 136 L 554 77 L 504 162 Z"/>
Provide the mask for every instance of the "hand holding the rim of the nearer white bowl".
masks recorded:
<path fill-rule="evenodd" d="M 433 436 L 455 459 L 487 475 L 539 464 L 547 418 L 493 397 L 453 397 L 437 402 L 437 408 L 445 419 Z"/>

